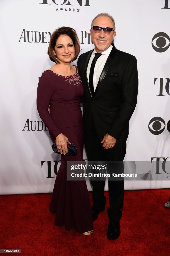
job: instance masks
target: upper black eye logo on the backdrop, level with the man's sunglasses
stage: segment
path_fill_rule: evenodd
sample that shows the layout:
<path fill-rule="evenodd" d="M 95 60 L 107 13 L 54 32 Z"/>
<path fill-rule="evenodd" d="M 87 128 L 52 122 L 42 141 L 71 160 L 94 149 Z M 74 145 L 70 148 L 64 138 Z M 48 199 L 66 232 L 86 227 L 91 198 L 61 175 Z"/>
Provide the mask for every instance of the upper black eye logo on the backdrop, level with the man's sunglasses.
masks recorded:
<path fill-rule="evenodd" d="M 157 52 L 164 52 L 170 46 L 170 38 L 164 32 L 159 32 L 152 38 L 152 47 Z"/>

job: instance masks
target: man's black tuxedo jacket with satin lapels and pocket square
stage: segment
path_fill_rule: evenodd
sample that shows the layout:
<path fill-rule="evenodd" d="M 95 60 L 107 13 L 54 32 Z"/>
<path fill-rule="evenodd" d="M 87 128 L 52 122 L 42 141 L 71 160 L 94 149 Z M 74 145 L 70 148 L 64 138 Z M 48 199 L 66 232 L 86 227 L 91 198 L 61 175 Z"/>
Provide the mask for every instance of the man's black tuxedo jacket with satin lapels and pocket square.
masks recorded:
<path fill-rule="evenodd" d="M 129 120 L 137 103 L 137 60 L 134 56 L 117 50 L 113 45 L 96 90 L 92 94 L 86 73 L 92 52 L 93 50 L 80 55 L 77 62 L 84 87 L 85 141 L 88 137 L 92 118 L 101 140 L 106 133 L 117 140 L 127 139 Z"/>

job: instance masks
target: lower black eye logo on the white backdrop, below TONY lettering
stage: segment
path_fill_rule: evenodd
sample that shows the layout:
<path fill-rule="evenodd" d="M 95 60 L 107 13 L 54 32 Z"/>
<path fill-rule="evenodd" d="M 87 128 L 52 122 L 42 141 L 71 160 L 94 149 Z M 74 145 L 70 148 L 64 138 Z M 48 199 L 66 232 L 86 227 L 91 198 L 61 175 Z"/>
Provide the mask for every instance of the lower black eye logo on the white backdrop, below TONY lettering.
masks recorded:
<path fill-rule="evenodd" d="M 165 121 L 161 117 L 156 116 L 151 119 L 151 121 L 149 122 L 148 128 L 152 134 L 159 135 L 165 130 L 165 126 L 166 126 Z M 168 132 L 170 132 L 170 120 L 167 122 L 166 127 Z"/>

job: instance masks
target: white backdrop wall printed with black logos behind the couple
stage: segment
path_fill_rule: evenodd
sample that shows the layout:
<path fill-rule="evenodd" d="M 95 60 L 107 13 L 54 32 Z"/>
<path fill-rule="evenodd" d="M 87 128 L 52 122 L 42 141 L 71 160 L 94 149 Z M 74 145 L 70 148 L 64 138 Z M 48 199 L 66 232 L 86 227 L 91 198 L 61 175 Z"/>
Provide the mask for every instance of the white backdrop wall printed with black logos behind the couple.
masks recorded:
<path fill-rule="evenodd" d="M 170 0 L 1 0 L 0 7 L 0 194 L 53 191 L 60 157 L 52 151 L 36 108 L 38 81 L 54 64 L 47 55 L 52 32 L 60 26 L 74 28 L 80 54 L 89 51 L 94 48 L 91 21 L 101 12 L 115 19 L 115 47 L 138 61 L 138 103 L 125 160 L 169 161 Z M 125 189 L 169 188 L 170 171 L 165 172 L 166 180 L 125 181 Z"/>

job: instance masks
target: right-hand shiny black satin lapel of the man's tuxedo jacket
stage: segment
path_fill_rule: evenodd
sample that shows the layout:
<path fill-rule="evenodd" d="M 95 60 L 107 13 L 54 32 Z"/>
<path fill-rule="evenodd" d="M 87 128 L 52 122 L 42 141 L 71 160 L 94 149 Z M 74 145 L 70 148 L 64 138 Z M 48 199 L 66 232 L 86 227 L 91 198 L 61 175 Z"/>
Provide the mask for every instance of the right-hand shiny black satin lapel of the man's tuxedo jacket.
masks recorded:
<path fill-rule="evenodd" d="M 110 65 L 111 65 L 111 63 L 112 63 L 112 61 L 115 57 L 116 47 L 114 46 L 114 44 L 112 44 L 112 45 L 113 45 L 113 48 L 112 48 L 112 50 L 111 50 L 111 52 L 110 52 L 110 54 L 109 54 L 109 56 L 106 60 L 106 63 L 104 65 L 104 68 L 103 68 L 102 73 L 100 75 L 98 85 L 97 85 L 97 87 L 95 89 L 95 92 L 94 92 L 94 96 L 98 92 L 100 86 L 102 85 L 103 79 L 105 78 L 105 75 L 106 75 L 106 73 L 107 73 L 107 71 L 108 71 L 108 69 L 109 69 L 109 67 L 110 67 Z"/>

